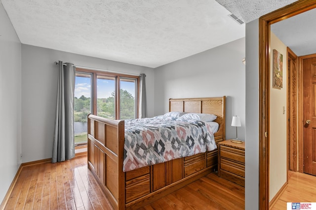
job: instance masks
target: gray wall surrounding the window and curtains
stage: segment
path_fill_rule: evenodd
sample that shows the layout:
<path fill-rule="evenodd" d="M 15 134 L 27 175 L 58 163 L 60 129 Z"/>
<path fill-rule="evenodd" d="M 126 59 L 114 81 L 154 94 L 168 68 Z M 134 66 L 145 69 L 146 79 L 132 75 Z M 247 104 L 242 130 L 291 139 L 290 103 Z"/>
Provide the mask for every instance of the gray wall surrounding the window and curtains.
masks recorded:
<path fill-rule="evenodd" d="M 148 114 L 154 116 L 154 70 L 22 44 L 22 162 L 52 156 L 58 66 L 62 60 L 79 66 L 145 73 Z"/>

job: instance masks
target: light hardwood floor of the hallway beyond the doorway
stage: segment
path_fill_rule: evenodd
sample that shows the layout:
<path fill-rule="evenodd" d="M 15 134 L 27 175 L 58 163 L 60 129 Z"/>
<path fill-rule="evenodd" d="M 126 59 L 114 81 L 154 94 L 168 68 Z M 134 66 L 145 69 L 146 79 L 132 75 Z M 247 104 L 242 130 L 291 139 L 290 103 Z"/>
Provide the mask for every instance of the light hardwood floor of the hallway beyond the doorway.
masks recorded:
<path fill-rule="evenodd" d="M 271 210 L 286 210 L 287 202 L 316 202 L 316 177 L 289 172 L 287 187 Z"/>

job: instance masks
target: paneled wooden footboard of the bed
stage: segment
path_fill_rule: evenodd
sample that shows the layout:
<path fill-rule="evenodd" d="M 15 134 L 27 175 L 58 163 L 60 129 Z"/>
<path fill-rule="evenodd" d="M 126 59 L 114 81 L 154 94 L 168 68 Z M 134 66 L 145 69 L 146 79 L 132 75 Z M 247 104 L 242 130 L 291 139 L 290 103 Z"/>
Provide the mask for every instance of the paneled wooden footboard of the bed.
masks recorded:
<path fill-rule="evenodd" d="M 124 121 L 88 115 L 88 168 L 114 209 L 125 209 Z"/>

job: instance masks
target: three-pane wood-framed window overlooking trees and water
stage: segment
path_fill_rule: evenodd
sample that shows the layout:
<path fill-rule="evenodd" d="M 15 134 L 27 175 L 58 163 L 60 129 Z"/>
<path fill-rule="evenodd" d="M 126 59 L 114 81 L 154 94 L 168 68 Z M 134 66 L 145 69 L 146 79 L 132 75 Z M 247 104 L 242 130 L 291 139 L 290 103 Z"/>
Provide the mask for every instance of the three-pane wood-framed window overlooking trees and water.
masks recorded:
<path fill-rule="evenodd" d="M 113 120 L 137 118 L 138 87 L 139 76 L 77 68 L 74 104 L 75 144 L 86 144 L 89 113 Z"/>

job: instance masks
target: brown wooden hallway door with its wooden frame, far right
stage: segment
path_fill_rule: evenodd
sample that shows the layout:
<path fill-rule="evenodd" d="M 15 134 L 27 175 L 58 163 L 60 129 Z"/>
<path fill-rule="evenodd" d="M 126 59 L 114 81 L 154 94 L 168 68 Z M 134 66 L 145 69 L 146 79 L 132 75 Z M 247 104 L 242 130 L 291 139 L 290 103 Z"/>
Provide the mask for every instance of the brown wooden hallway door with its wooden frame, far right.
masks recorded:
<path fill-rule="evenodd" d="M 316 54 L 297 57 L 287 48 L 287 57 L 287 170 L 316 176 Z"/>

